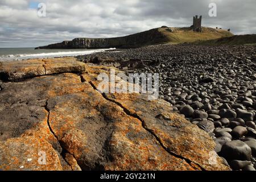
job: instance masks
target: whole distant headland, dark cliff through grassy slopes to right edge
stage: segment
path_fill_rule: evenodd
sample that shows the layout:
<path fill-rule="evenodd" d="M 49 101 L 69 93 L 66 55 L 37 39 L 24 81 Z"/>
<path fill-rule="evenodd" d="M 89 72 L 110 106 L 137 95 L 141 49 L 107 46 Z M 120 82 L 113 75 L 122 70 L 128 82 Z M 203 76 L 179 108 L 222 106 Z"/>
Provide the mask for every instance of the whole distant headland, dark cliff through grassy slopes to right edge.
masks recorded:
<path fill-rule="evenodd" d="M 234 35 L 227 30 L 202 27 L 194 32 L 190 27 L 153 28 L 148 31 L 118 38 L 75 38 L 61 43 L 35 49 L 73 49 L 73 48 L 136 48 L 155 44 L 192 43 L 200 45 L 241 45 L 256 44 L 256 35 Z"/>

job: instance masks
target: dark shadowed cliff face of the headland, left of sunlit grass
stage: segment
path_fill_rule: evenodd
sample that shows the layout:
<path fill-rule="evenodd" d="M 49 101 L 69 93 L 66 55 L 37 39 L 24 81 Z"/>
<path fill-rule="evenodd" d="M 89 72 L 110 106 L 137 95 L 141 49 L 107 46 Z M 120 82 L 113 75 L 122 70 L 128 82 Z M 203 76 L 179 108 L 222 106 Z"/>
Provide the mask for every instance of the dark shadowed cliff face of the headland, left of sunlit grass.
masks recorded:
<path fill-rule="evenodd" d="M 36 49 L 63 49 L 63 48 L 134 48 L 151 44 L 167 42 L 168 39 L 158 31 L 158 28 L 140 32 L 138 34 L 118 38 L 76 38 L 71 41 L 50 44 Z"/>

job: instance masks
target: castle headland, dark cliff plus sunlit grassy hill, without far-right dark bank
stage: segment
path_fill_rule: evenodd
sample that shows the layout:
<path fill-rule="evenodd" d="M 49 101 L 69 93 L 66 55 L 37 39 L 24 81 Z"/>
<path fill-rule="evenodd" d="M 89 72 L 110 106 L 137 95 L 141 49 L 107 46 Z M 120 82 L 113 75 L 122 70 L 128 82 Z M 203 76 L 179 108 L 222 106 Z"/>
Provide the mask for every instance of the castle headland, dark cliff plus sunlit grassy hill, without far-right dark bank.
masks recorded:
<path fill-rule="evenodd" d="M 154 44 L 179 44 L 212 40 L 232 36 L 226 30 L 203 27 L 202 32 L 194 32 L 191 28 L 154 28 L 138 34 L 119 38 L 76 38 L 71 41 L 50 44 L 35 49 L 72 49 L 72 48 L 136 48 Z"/>

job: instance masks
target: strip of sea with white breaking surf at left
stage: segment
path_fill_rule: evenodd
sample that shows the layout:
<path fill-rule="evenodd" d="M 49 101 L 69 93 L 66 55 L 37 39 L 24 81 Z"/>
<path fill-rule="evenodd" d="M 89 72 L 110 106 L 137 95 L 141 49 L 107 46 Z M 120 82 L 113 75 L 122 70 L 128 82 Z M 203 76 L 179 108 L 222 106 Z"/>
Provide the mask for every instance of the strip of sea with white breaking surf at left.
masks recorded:
<path fill-rule="evenodd" d="M 110 49 L 34 49 L 34 48 L 0 48 L 0 61 L 51 58 L 63 56 L 88 55 Z"/>

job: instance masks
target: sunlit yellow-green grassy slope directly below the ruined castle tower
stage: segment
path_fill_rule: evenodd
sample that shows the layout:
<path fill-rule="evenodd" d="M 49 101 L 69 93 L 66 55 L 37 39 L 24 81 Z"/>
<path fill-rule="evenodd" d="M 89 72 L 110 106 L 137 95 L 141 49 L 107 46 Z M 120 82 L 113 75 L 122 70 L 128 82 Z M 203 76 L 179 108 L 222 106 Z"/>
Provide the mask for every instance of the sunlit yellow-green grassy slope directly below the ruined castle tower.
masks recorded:
<path fill-rule="evenodd" d="M 229 31 L 209 27 L 203 27 L 202 32 L 194 32 L 189 27 L 158 28 L 158 31 L 166 36 L 168 44 L 193 43 L 233 36 Z"/>

